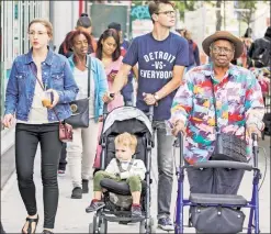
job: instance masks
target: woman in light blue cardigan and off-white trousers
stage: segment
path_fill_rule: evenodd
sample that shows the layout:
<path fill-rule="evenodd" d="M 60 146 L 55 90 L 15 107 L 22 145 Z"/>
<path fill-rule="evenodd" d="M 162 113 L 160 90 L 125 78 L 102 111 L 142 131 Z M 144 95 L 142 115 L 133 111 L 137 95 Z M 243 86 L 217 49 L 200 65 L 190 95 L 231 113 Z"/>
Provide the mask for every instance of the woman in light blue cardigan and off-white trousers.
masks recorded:
<path fill-rule="evenodd" d="M 75 80 L 79 87 L 77 99 L 88 96 L 88 67 L 90 66 L 89 127 L 75 129 L 74 141 L 67 144 L 67 157 L 72 181 L 72 199 L 81 199 L 89 192 L 89 179 L 98 144 L 99 119 L 102 118 L 102 97 L 108 91 L 108 81 L 102 63 L 88 55 L 91 37 L 82 31 L 75 31 L 69 37 L 74 55 L 69 57 Z"/>

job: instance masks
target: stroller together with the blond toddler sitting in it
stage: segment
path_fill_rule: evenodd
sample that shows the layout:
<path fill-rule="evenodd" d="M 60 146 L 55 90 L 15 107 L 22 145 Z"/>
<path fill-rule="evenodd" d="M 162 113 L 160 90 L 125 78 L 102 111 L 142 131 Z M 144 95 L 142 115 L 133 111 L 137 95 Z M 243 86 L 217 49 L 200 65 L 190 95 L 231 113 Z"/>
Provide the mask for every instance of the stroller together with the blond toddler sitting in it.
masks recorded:
<path fill-rule="evenodd" d="M 95 211 L 89 232 L 108 233 L 108 222 L 139 222 L 139 233 L 154 233 L 150 216 L 153 108 L 148 118 L 134 107 L 116 108 L 106 114 L 105 104 L 103 116 L 94 199 L 86 209 L 86 212 Z M 125 156 L 123 149 L 127 149 Z"/>

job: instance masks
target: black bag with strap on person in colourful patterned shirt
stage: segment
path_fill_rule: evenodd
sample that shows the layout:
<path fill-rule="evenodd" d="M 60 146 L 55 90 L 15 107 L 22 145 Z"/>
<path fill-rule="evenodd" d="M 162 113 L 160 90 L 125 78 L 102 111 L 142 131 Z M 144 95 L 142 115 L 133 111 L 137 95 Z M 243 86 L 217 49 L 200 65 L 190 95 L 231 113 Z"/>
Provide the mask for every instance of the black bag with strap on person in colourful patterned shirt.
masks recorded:
<path fill-rule="evenodd" d="M 212 80 L 212 78 L 211 78 Z M 214 91 L 214 83 L 212 80 L 212 91 L 214 97 L 214 109 L 215 109 L 215 151 L 212 155 L 213 160 L 235 160 L 241 163 L 248 163 L 247 159 L 247 143 L 246 143 L 246 125 L 245 125 L 245 140 L 239 138 L 233 133 L 222 133 L 217 123 L 216 113 L 216 99 Z"/>

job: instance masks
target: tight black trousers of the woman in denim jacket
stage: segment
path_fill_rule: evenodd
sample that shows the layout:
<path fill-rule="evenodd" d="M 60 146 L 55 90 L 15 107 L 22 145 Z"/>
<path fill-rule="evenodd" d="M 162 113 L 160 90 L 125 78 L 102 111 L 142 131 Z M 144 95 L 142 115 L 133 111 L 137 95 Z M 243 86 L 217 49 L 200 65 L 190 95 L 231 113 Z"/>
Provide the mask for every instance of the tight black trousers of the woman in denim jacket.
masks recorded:
<path fill-rule="evenodd" d="M 33 172 L 37 145 L 41 144 L 44 227 L 47 229 L 54 229 L 58 205 L 57 168 L 61 151 L 58 129 L 58 123 L 18 123 L 15 127 L 18 183 L 29 215 L 37 213 Z"/>

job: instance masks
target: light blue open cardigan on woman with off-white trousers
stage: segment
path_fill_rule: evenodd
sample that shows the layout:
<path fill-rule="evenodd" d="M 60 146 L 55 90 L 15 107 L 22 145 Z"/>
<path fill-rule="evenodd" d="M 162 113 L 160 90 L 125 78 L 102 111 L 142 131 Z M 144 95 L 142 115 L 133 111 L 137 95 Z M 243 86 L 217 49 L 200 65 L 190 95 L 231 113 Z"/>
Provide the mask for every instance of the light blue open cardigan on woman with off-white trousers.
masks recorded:
<path fill-rule="evenodd" d="M 69 58 L 69 64 L 71 67 L 71 70 L 75 69 L 75 63 L 74 63 L 74 55 L 71 55 Z M 98 122 L 99 116 L 103 113 L 103 100 L 102 97 L 104 93 L 109 90 L 109 83 L 106 79 L 106 74 L 103 68 L 102 63 L 90 55 L 87 57 L 87 64 L 89 64 L 89 59 L 91 59 L 91 70 L 93 74 L 93 79 L 95 83 L 95 93 L 94 93 L 94 121 Z"/>

